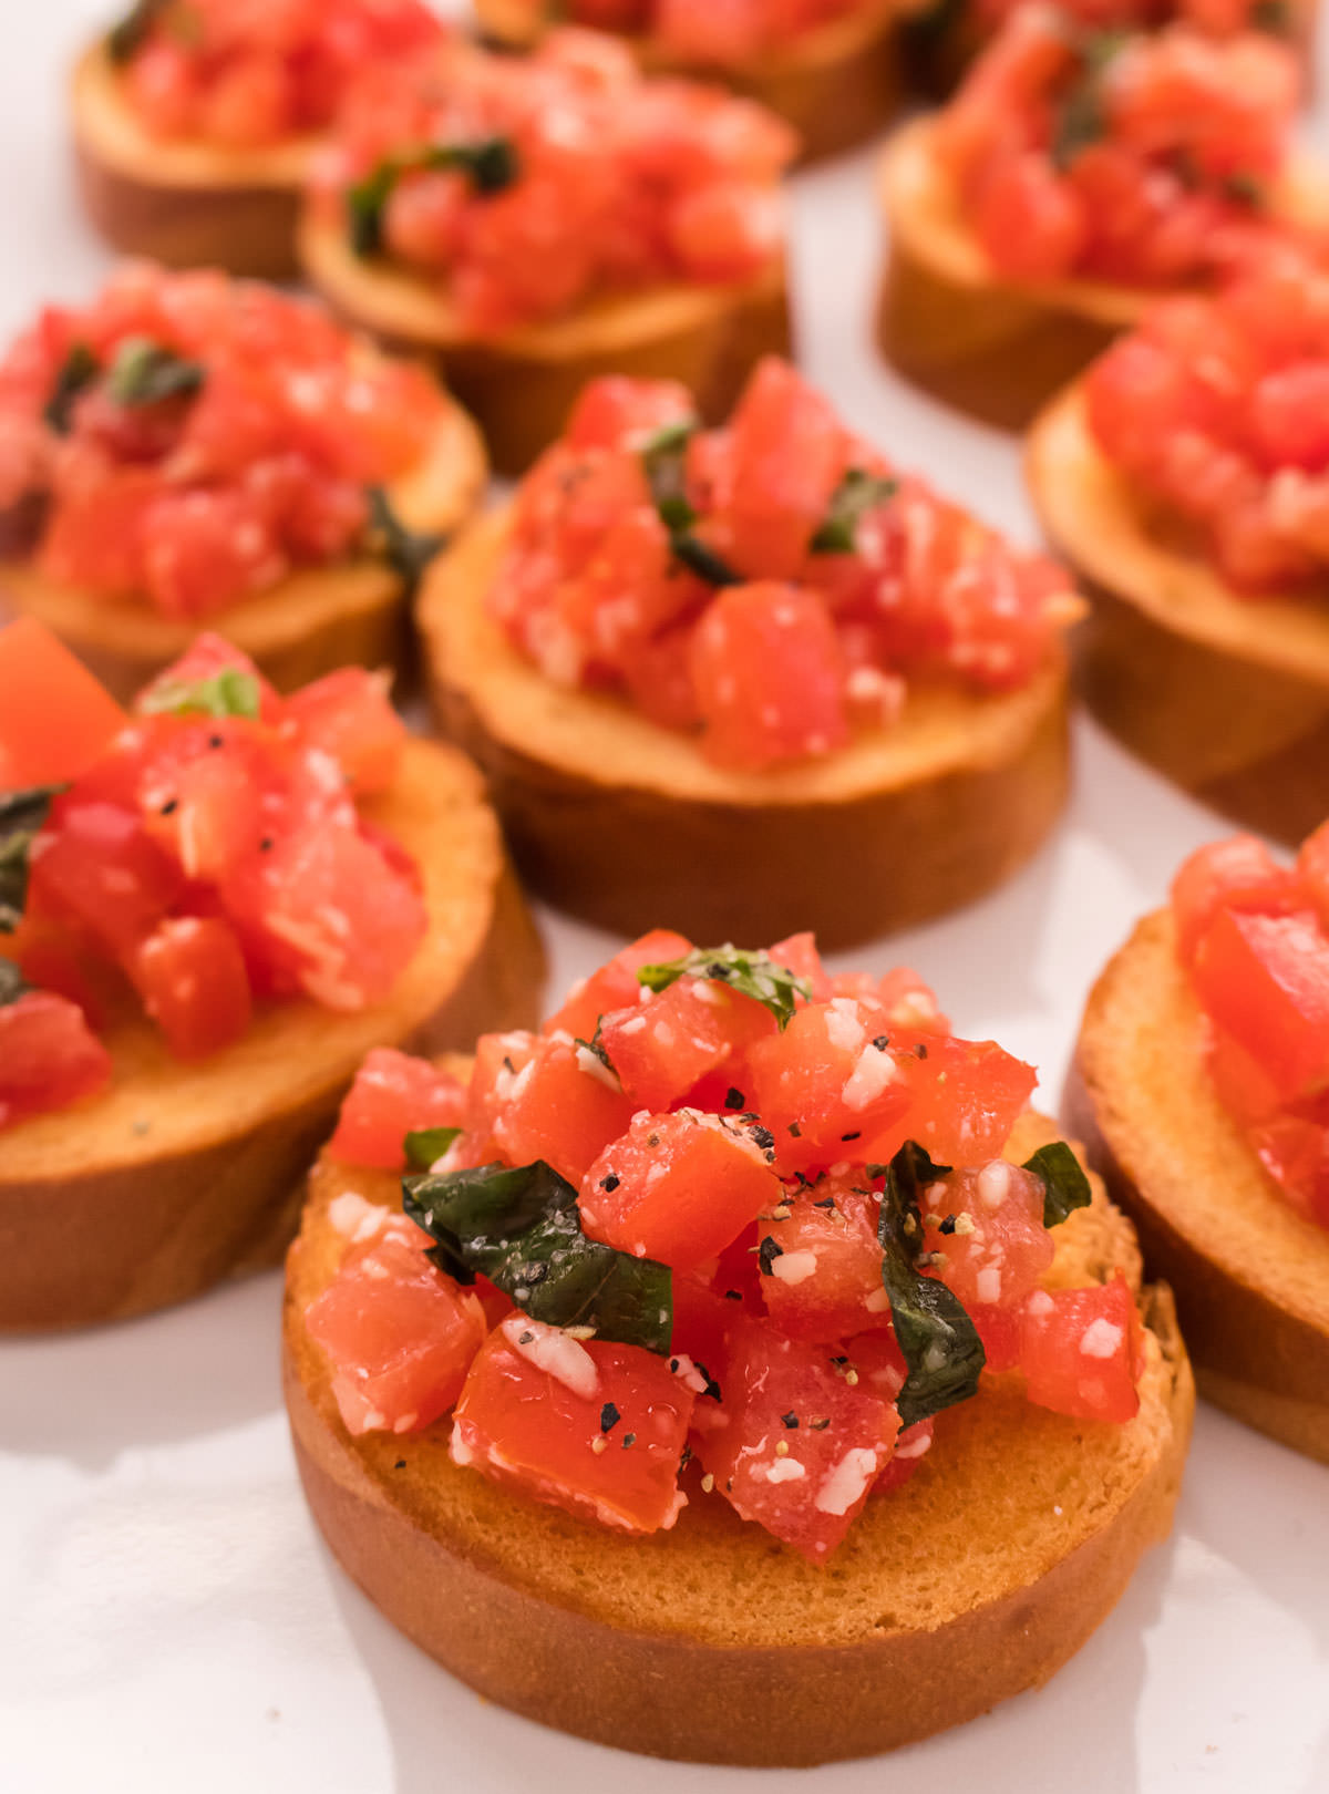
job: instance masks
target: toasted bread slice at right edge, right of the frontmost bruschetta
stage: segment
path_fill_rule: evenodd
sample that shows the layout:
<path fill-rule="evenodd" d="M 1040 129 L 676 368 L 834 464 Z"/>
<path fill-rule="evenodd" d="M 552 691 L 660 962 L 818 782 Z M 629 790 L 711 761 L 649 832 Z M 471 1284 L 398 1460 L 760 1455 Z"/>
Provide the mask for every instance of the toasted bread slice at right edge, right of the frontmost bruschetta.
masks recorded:
<path fill-rule="evenodd" d="M 1168 911 L 1094 985 L 1067 1116 L 1177 1290 L 1200 1392 L 1329 1464 L 1329 1229 L 1299 1215 L 1218 1100 Z"/>

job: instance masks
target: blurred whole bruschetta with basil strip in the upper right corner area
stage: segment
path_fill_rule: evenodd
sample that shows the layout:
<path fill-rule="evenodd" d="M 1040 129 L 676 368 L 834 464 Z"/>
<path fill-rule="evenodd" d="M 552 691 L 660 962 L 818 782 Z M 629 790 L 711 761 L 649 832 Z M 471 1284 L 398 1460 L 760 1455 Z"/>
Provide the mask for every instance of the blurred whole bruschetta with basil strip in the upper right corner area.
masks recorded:
<path fill-rule="evenodd" d="M 1067 30 L 1021 7 L 884 152 L 884 353 L 1021 429 L 1160 292 L 1324 237 L 1329 176 L 1290 149 L 1297 86 L 1268 34 Z"/>

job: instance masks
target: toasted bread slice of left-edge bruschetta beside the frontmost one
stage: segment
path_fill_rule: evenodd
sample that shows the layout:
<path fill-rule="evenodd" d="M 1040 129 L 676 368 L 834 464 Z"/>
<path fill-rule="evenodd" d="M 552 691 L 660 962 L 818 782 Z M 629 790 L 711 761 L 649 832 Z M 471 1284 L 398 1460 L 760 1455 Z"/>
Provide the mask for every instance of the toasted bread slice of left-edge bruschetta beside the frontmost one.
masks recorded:
<path fill-rule="evenodd" d="M 420 865 L 429 936 L 359 1014 L 269 1008 L 181 1064 L 142 1014 L 106 1037 L 106 1094 L 0 1136 L 0 1331 L 88 1326 L 278 1263 L 300 1186 L 371 1046 L 438 1051 L 534 1019 L 543 954 L 479 773 L 413 741 L 364 806 Z"/>

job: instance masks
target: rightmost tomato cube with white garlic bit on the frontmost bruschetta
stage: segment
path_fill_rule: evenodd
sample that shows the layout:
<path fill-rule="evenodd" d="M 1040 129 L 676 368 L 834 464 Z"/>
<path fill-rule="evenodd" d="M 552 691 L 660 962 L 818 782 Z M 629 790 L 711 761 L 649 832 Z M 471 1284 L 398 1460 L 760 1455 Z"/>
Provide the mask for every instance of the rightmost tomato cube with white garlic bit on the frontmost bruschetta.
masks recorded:
<path fill-rule="evenodd" d="M 1083 1421 L 1139 1414 L 1141 1320 L 1117 1272 L 1087 1290 L 1037 1290 L 1024 1306 L 1021 1369 L 1029 1401 Z"/>

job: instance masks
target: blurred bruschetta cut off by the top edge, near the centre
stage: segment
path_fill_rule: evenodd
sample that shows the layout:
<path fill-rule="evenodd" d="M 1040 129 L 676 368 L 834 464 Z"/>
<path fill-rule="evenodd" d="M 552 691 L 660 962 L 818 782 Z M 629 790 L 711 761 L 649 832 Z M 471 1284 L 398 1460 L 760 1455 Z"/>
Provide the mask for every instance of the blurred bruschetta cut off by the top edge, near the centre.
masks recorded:
<path fill-rule="evenodd" d="M 649 74 L 723 79 L 798 133 L 807 158 L 875 136 L 900 104 L 900 0 L 766 0 L 725 9 L 655 0 L 477 0 L 481 30 L 506 48 L 538 43 L 554 18 L 619 32 Z"/>

